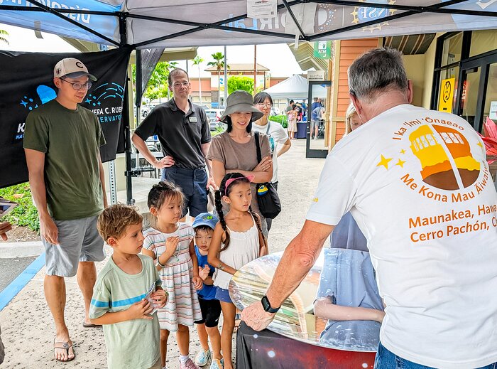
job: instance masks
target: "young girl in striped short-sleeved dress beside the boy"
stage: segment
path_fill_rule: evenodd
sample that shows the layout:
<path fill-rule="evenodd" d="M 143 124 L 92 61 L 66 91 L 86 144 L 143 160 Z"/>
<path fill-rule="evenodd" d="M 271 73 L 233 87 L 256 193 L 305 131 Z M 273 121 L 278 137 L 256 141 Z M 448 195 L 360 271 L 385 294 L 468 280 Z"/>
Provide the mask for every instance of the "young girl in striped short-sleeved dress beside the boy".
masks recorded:
<path fill-rule="evenodd" d="M 202 319 L 196 289 L 202 288 L 195 257 L 195 232 L 190 225 L 178 223 L 183 194 L 168 181 L 154 185 L 148 193 L 148 208 L 155 224 L 143 235 L 143 254 L 153 257 L 168 303 L 158 309 L 160 357 L 165 368 L 169 332 L 176 332 L 180 348 L 180 369 L 199 369 L 189 358 L 190 331 Z"/>

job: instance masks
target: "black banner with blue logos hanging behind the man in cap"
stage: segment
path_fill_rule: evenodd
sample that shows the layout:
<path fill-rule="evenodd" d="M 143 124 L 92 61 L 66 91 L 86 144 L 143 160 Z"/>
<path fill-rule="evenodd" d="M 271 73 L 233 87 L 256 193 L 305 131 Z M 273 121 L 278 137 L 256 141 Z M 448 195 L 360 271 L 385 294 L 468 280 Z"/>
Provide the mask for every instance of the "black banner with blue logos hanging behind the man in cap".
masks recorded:
<path fill-rule="evenodd" d="M 123 152 L 121 112 L 130 49 L 98 53 L 16 53 L 0 51 L 0 188 L 28 181 L 23 135 L 31 110 L 55 99 L 53 68 L 62 58 L 77 58 L 98 78 L 82 102 L 99 119 L 107 144 L 102 161 Z"/>

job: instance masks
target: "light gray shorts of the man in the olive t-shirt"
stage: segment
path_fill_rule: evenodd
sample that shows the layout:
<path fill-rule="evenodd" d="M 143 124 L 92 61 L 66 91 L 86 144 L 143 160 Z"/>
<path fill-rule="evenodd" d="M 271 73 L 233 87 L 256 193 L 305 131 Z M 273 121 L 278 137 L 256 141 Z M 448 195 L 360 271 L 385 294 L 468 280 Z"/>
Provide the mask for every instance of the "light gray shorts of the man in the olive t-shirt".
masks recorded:
<path fill-rule="evenodd" d="M 52 245 L 41 237 L 47 275 L 74 277 L 79 262 L 105 259 L 104 240 L 97 231 L 97 218 L 54 220 L 59 232 L 59 245 Z"/>

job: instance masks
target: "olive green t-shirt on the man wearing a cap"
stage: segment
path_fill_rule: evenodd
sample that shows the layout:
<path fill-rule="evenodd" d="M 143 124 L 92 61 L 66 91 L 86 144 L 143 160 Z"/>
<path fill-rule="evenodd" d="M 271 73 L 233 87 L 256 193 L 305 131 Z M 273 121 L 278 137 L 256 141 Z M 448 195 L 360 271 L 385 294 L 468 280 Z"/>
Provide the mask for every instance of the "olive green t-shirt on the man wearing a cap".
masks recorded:
<path fill-rule="evenodd" d="M 52 100 L 28 114 L 25 149 L 45 153 L 45 188 L 55 220 L 87 218 L 104 208 L 99 146 L 105 144 L 97 116 L 80 105 L 71 110 Z"/>

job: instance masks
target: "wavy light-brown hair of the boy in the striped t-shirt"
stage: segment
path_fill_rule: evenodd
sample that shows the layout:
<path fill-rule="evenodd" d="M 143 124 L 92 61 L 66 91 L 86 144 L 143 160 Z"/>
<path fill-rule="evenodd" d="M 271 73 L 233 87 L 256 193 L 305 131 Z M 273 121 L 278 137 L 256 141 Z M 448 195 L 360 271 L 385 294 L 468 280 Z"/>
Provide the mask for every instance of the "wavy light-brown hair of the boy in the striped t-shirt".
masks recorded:
<path fill-rule="evenodd" d="M 107 241 L 109 237 L 120 238 L 124 236 L 129 225 L 143 222 L 143 217 L 135 208 L 116 204 L 104 209 L 97 220 L 97 230 L 102 238 Z"/>

